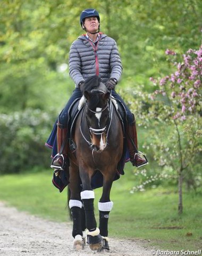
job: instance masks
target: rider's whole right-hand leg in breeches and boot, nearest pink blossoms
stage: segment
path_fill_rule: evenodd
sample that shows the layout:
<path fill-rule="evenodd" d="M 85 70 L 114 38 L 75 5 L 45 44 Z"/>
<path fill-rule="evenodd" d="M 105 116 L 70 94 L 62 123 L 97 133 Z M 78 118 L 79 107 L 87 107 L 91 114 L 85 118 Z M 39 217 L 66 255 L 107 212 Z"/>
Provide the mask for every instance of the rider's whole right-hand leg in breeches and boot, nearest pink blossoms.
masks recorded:
<path fill-rule="evenodd" d="M 147 159 L 145 157 L 141 157 L 138 153 L 138 139 L 137 139 L 137 130 L 136 130 L 136 121 L 134 119 L 134 115 L 131 113 L 128 106 L 125 104 L 123 99 L 119 94 L 117 94 L 115 91 L 112 91 L 112 95 L 115 99 L 119 99 L 127 112 L 127 145 L 129 149 L 130 154 L 130 161 L 133 166 L 144 166 L 147 164 Z"/>

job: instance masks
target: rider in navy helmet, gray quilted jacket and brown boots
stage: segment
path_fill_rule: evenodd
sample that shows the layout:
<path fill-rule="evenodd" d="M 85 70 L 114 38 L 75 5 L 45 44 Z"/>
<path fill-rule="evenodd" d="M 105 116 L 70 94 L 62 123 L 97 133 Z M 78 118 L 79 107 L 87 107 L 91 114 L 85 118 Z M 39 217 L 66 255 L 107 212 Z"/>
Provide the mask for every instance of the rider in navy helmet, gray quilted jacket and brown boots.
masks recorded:
<path fill-rule="evenodd" d="M 67 132 L 68 110 L 75 99 L 81 98 L 80 86 L 85 80 L 97 75 L 105 83 L 108 90 L 112 90 L 112 96 L 120 100 L 127 111 L 127 144 L 130 161 L 133 166 L 143 166 L 147 160 L 138 154 L 136 121 L 133 114 L 125 105 L 123 99 L 115 92 L 115 86 L 122 74 L 122 63 L 116 42 L 111 37 L 99 32 L 100 17 L 95 9 L 86 9 L 81 12 L 80 24 L 86 34 L 75 40 L 70 48 L 69 73 L 75 83 L 75 90 L 63 109 L 57 123 L 57 145 L 60 151 L 62 142 Z M 134 146 L 135 145 L 135 146 Z M 51 167 L 62 169 L 63 157 L 68 158 L 66 147 L 62 155 L 54 159 Z"/>

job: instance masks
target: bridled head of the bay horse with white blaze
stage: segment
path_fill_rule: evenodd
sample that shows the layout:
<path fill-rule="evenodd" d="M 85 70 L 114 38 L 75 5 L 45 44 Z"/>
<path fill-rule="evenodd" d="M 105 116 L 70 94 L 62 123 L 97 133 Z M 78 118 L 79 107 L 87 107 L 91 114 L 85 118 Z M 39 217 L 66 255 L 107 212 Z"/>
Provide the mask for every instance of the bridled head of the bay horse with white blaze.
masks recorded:
<path fill-rule="evenodd" d="M 88 86 L 89 82 L 91 86 Z M 86 99 L 86 118 L 91 137 L 91 147 L 95 151 L 103 151 L 106 147 L 107 124 L 110 117 L 108 100 L 110 92 L 97 76 L 89 78 L 86 85 L 83 94 Z"/>

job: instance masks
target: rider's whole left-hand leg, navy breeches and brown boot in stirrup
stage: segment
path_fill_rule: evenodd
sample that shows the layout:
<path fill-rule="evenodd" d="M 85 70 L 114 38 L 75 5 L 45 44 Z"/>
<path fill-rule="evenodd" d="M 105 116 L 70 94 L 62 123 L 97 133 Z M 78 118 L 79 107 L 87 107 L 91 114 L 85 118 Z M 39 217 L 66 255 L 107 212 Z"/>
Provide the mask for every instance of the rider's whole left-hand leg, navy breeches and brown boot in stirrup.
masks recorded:
<path fill-rule="evenodd" d="M 66 133 L 68 132 L 68 111 L 72 103 L 75 99 L 81 98 L 82 93 L 79 88 L 75 88 L 73 91 L 68 103 L 66 103 L 65 108 L 63 109 L 60 117 L 58 118 L 57 123 L 57 152 L 60 151 L 62 143 L 66 137 Z M 64 157 L 64 159 L 63 159 Z M 53 161 L 51 167 L 55 169 L 61 169 L 63 167 L 63 163 L 68 159 L 68 147 L 64 147 L 62 151 L 62 155 L 58 155 L 56 159 Z"/>

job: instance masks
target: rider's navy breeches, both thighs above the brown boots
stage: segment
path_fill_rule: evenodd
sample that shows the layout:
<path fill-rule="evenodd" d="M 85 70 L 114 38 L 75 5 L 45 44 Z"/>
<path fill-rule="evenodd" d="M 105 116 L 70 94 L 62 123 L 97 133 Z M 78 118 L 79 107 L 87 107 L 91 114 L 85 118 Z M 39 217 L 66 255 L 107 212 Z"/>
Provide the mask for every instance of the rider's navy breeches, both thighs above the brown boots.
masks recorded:
<path fill-rule="evenodd" d="M 128 123 L 132 124 L 132 122 L 134 121 L 133 115 L 131 113 L 131 111 L 129 110 L 128 106 L 125 104 L 125 102 L 123 101 L 123 99 L 121 98 L 121 96 L 119 94 L 117 94 L 115 91 L 112 91 L 112 95 L 115 99 L 120 100 L 124 107 L 125 110 L 127 111 L 127 119 L 128 119 Z M 59 122 L 60 124 L 62 124 L 64 127 L 66 127 L 68 125 L 68 111 L 70 106 L 72 105 L 72 103 L 74 102 L 75 99 L 81 98 L 82 97 L 82 93 L 80 91 L 79 88 L 75 88 L 73 90 L 73 93 L 68 101 L 68 103 L 66 103 L 66 106 L 64 107 L 62 113 L 60 114 L 59 117 Z"/>

